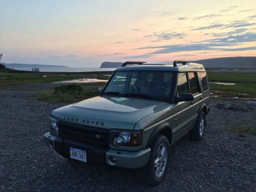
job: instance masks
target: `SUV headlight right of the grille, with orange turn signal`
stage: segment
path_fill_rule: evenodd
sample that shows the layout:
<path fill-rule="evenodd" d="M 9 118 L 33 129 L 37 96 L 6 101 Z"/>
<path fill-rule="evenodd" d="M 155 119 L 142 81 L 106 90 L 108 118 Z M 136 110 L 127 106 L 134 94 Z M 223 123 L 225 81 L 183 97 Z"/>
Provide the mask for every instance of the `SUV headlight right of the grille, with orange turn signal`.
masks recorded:
<path fill-rule="evenodd" d="M 112 146 L 133 146 L 142 145 L 142 130 L 110 130 L 110 144 Z"/>

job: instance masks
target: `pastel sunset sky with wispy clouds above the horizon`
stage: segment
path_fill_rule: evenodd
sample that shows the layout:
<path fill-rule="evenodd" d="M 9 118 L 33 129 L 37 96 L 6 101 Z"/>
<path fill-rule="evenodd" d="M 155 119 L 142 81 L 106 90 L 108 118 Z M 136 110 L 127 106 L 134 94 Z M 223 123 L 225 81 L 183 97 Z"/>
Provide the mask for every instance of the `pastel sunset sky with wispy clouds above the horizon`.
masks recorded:
<path fill-rule="evenodd" d="M 0 0 L 5 63 L 256 56 L 256 0 Z"/>

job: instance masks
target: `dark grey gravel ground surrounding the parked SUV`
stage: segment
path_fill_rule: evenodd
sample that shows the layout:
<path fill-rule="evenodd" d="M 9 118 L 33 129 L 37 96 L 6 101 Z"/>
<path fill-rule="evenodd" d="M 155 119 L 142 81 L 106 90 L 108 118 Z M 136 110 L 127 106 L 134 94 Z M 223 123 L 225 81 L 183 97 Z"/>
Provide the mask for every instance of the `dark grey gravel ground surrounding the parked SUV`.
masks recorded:
<path fill-rule="evenodd" d="M 228 131 L 255 125 L 255 108 L 228 110 L 213 99 L 202 141 L 185 135 L 171 146 L 169 169 L 158 186 L 144 185 L 135 172 L 61 157 L 46 147 L 48 116 L 63 104 L 35 100 L 32 91 L 0 91 L 0 191 L 255 191 L 256 135 Z"/>

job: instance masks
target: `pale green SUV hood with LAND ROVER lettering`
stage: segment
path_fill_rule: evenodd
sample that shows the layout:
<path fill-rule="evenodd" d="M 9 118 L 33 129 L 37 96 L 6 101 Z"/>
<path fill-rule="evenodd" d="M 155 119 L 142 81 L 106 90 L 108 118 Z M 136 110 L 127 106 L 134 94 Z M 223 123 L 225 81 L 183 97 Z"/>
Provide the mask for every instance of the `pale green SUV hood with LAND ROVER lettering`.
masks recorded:
<path fill-rule="evenodd" d="M 137 121 L 169 103 L 133 98 L 96 96 L 52 111 L 60 121 L 100 128 L 133 129 Z"/>

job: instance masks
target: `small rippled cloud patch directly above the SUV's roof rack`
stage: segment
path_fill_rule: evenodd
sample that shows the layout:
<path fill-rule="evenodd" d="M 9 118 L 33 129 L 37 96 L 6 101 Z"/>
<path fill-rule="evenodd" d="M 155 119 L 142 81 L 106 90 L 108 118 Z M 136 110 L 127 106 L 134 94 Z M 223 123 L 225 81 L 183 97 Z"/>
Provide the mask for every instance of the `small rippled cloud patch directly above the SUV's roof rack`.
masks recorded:
<path fill-rule="evenodd" d="M 180 33 L 180 32 L 153 32 L 153 34 L 148 34 L 145 35 L 144 37 L 150 37 L 150 38 L 156 38 L 154 40 L 151 40 L 151 42 L 158 42 L 158 41 L 163 41 L 163 40 L 169 40 L 171 38 L 183 38 L 185 33 Z"/>

